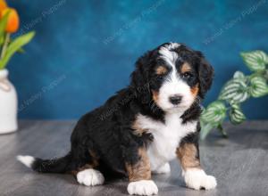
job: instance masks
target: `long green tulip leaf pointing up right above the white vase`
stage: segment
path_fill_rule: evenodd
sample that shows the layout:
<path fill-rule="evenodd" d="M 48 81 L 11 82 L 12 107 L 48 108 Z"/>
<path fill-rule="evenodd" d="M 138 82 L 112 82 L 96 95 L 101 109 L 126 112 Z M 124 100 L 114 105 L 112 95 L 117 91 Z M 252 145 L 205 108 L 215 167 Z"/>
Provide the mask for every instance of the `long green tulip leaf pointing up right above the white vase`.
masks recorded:
<path fill-rule="evenodd" d="M 4 58 L 0 61 L 0 69 L 4 69 L 6 63 L 10 60 L 13 54 L 16 53 L 23 45 L 28 44 L 34 35 L 35 32 L 32 31 L 13 40 L 13 42 L 8 45 Z"/>

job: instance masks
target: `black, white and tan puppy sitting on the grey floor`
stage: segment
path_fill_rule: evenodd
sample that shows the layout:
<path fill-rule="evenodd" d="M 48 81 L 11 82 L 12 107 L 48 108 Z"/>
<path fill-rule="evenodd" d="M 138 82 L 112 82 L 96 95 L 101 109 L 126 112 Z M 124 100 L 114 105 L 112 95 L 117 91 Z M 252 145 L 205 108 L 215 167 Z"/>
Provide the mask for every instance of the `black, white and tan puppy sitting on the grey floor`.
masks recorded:
<path fill-rule="evenodd" d="M 104 184 L 114 174 L 128 176 L 128 192 L 158 192 L 151 173 L 168 173 L 178 158 L 188 187 L 213 189 L 214 176 L 200 166 L 200 101 L 212 85 L 214 69 L 202 53 L 166 43 L 141 56 L 130 86 L 80 118 L 71 151 L 60 159 L 17 158 L 43 173 L 71 173 L 80 184 Z"/>

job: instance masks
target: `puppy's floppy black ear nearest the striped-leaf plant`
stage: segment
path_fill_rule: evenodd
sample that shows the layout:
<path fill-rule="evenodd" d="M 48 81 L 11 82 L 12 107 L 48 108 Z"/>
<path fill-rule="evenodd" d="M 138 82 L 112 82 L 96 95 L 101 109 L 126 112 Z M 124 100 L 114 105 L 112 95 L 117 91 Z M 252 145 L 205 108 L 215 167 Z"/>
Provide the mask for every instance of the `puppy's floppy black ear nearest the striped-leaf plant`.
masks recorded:
<path fill-rule="evenodd" d="M 214 79 L 214 68 L 205 60 L 203 53 L 197 51 L 199 58 L 198 78 L 199 78 L 199 96 L 204 99 L 205 93 L 210 89 Z"/>

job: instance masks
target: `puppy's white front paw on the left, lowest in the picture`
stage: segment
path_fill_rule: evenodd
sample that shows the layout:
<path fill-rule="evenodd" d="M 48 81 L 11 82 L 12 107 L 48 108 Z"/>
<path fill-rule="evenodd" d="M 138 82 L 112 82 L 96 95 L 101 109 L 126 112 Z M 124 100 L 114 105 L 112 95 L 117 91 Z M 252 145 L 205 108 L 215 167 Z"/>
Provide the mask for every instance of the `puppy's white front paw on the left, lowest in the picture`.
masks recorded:
<path fill-rule="evenodd" d="M 140 180 L 131 182 L 128 185 L 128 192 L 138 195 L 153 195 L 158 193 L 158 188 L 152 180 Z"/>

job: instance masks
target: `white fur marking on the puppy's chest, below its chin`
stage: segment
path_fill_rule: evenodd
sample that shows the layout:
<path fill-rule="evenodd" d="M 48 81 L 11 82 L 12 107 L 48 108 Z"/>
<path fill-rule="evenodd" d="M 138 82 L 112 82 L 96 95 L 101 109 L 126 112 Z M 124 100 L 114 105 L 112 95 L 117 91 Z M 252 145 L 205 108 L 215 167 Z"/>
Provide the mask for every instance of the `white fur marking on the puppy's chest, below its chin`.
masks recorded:
<path fill-rule="evenodd" d="M 182 124 L 181 114 L 166 114 L 165 123 L 138 114 L 138 127 L 147 129 L 154 141 L 147 148 L 151 169 L 155 170 L 176 157 L 180 140 L 197 131 L 197 121 Z"/>

